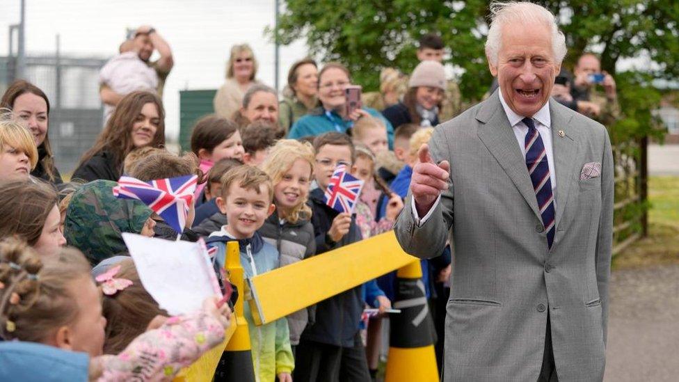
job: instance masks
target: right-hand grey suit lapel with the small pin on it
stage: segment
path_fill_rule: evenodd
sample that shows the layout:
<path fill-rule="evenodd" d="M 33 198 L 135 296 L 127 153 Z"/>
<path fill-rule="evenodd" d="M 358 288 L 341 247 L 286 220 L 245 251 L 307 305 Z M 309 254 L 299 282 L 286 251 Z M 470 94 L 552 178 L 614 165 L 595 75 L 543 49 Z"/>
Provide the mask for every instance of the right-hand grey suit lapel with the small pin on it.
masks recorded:
<path fill-rule="evenodd" d="M 577 130 L 570 125 L 572 116 L 565 116 L 557 109 L 554 100 L 550 99 L 550 115 L 552 118 L 552 148 L 554 152 L 554 171 L 557 176 L 557 193 L 554 196 L 557 205 L 555 227 L 559 228 L 561 218 L 564 216 L 568 193 L 577 179 L 573 175 L 575 158 L 577 157 Z M 564 132 L 564 136 L 559 134 Z"/>

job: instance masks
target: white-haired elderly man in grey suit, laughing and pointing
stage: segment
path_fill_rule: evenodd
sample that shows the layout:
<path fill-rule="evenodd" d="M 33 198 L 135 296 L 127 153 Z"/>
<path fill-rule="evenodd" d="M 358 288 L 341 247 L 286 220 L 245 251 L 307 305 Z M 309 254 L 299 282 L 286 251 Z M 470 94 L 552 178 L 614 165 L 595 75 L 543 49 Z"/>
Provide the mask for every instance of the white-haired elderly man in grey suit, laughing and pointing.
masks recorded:
<path fill-rule="evenodd" d="M 554 15 L 494 3 L 500 89 L 436 127 L 396 224 L 407 253 L 455 244 L 444 381 L 601 381 L 614 174 L 606 129 L 550 99 Z"/>

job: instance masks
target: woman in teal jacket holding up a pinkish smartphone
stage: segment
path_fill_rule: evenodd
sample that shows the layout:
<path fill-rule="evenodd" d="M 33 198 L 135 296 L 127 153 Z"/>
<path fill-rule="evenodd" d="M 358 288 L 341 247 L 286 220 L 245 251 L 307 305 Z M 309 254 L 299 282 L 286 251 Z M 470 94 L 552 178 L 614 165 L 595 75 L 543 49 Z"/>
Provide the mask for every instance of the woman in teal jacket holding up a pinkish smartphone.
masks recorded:
<path fill-rule="evenodd" d="M 327 132 L 346 133 L 362 116 L 380 119 L 386 129 L 389 148 L 394 147 L 392 124 L 375 109 L 360 104 L 360 88 L 351 85 L 349 70 L 340 63 L 327 63 L 318 79 L 319 107 L 292 125 L 288 138 L 319 136 Z"/>

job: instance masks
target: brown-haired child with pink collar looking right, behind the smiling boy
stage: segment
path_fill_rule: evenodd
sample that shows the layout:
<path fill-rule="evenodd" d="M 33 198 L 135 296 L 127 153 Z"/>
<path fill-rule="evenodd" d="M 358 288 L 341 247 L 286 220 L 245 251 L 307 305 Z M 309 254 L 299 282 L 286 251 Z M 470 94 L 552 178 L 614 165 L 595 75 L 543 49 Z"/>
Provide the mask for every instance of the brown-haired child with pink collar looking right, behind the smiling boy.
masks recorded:
<path fill-rule="evenodd" d="M 200 159 L 200 170 L 207 174 L 220 159 L 243 161 L 243 141 L 238 125 L 216 115 L 200 118 L 191 132 L 191 151 Z M 205 202 L 201 196 L 205 184 L 195 189 L 196 206 Z"/>

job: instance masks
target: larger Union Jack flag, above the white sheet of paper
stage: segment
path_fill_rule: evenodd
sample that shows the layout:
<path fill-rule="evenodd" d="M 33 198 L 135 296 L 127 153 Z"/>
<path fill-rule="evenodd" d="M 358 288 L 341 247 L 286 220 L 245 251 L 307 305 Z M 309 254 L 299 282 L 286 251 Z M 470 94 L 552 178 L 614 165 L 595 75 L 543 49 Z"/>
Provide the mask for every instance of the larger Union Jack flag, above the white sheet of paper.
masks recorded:
<path fill-rule="evenodd" d="M 198 182 L 196 175 L 170 177 L 142 182 L 134 177 L 120 177 L 113 195 L 122 199 L 141 200 L 163 220 L 182 233 Z"/>

